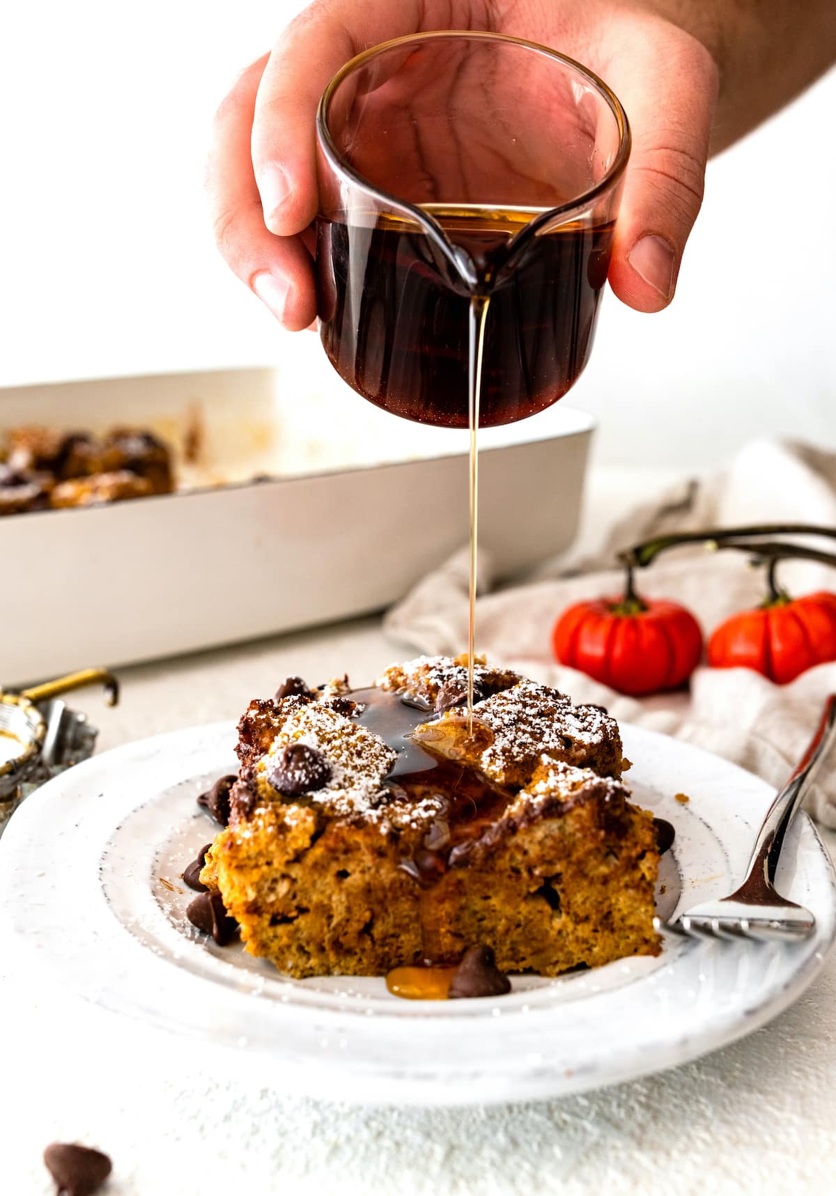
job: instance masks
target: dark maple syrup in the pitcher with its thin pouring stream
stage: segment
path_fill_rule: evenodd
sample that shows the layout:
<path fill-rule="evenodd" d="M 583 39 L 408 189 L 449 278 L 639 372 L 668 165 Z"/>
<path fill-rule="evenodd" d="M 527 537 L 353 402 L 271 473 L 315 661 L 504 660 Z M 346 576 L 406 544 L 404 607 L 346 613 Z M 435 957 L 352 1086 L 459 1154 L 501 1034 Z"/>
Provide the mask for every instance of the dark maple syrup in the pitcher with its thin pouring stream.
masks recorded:
<path fill-rule="evenodd" d="M 470 429 L 472 733 L 477 431 L 542 411 L 576 380 L 592 348 L 614 225 L 530 228 L 543 213 L 507 207 L 422 210 L 446 243 L 392 214 L 318 219 L 319 335 L 336 371 L 370 402 L 419 423 Z"/>

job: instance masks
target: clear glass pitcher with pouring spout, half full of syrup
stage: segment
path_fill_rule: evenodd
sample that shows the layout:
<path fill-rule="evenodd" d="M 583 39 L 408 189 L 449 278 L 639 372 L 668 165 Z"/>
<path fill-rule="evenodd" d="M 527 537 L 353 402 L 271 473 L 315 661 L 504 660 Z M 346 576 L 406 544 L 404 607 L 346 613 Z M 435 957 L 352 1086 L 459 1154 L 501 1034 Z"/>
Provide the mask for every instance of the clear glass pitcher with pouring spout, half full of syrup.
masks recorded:
<path fill-rule="evenodd" d="M 317 142 L 319 334 L 342 378 L 466 427 L 484 294 L 480 426 L 561 398 L 592 347 L 630 150 L 609 87 L 531 42 L 417 33 L 342 67 Z"/>

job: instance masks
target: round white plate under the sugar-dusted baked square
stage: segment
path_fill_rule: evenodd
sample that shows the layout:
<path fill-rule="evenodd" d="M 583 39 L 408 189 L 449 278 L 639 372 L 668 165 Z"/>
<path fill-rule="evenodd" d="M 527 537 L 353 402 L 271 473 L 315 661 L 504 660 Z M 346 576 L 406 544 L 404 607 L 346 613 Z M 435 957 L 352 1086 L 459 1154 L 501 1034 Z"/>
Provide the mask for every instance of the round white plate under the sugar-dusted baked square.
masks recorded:
<path fill-rule="evenodd" d="M 664 736 L 622 734 L 635 800 L 677 829 L 660 909 L 728 892 L 769 787 Z M 0 842 L 6 960 L 203 1051 L 231 1049 L 275 1087 L 431 1105 L 554 1097 L 694 1058 L 786 1008 L 834 939 L 832 866 L 803 816 L 779 869 L 816 915 L 801 944 L 666 942 L 657 959 L 515 977 L 508 996 L 475 1001 L 402 1001 L 379 978 L 283 980 L 184 920 L 179 874 L 213 835 L 195 799 L 233 770 L 233 743 L 230 724 L 158 736 L 24 803 Z M 675 800 L 683 791 L 688 804 Z"/>

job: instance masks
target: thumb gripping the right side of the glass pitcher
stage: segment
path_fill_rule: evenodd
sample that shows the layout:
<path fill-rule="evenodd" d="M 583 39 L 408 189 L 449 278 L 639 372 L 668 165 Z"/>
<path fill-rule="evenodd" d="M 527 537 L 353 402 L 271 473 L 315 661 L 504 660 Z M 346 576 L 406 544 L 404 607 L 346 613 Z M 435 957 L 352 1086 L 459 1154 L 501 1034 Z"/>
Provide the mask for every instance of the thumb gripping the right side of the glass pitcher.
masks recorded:
<path fill-rule="evenodd" d="M 673 25 L 631 31 L 610 67 L 633 130 L 633 152 L 610 263 L 610 285 L 636 311 L 673 298 L 700 212 L 718 93 L 708 50 Z M 621 77 L 621 78 L 620 78 Z"/>

